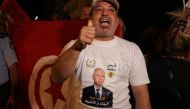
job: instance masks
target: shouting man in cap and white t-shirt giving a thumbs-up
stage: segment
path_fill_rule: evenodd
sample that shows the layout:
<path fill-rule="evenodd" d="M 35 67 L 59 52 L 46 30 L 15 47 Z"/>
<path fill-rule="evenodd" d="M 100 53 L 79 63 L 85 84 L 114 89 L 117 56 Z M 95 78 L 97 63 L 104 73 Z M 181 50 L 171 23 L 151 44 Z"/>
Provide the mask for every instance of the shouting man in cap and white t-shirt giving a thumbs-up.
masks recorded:
<path fill-rule="evenodd" d="M 116 0 L 92 2 L 88 26 L 81 29 L 74 45 L 56 60 L 52 79 L 63 82 L 76 72 L 84 88 L 93 82 L 93 69 L 101 67 L 106 72 L 104 87 L 113 92 L 111 108 L 131 109 L 130 84 L 136 108 L 151 109 L 147 87 L 149 78 L 141 50 L 136 44 L 114 36 L 119 21 L 118 9 Z"/>

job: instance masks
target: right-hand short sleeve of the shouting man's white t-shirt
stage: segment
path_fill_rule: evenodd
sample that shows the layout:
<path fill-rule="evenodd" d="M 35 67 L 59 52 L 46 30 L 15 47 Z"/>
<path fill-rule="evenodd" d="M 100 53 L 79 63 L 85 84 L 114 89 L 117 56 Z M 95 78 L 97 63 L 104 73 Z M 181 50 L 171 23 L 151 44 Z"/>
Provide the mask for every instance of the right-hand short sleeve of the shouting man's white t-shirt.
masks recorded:
<path fill-rule="evenodd" d="M 144 55 L 142 54 L 142 51 L 137 45 L 134 46 L 132 51 L 134 52 L 132 53 L 133 61 L 131 66 L 130 79 L 129 79 L 131 85 L 138 86 L 150 83 L 147 73 L 145 58 Z"/>

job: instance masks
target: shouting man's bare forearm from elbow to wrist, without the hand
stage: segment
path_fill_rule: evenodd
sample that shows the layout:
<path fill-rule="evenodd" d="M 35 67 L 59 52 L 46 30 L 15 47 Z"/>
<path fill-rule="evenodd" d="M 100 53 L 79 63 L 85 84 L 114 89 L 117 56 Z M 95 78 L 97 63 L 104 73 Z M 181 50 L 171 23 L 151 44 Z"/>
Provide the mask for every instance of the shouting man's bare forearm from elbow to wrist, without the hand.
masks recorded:
<path fill-rule="evenodd" d="M 55 61 L 51 74 L 54 82 L 62 83 L 75 72 L 75 65 L 82 49 L 80 41 L 77 40 L 71 48 Z"/>

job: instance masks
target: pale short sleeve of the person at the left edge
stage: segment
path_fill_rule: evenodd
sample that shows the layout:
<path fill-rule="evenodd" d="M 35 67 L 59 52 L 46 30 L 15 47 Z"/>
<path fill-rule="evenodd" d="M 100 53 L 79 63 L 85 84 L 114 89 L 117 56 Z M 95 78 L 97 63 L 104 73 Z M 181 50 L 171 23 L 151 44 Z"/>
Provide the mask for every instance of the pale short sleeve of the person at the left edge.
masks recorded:
<path fill-rule="evenodd" d="M 5 57 L 7 65 L 10 66 L 14 63 L 17 63 L 18 62 L 17 56 L 16 56 L 11 40 L 7 37 L 4 39 L 3 43 L 4 43 L 3 53 L 4 53 L 4 57 Z"/>

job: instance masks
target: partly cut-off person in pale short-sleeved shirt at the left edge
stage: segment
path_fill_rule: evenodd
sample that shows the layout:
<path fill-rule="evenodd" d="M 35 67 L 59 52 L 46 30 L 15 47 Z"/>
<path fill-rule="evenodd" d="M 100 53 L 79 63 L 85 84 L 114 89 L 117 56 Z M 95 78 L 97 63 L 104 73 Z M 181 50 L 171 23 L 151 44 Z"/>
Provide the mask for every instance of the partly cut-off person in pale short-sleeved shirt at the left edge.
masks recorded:
<path fill-rule="evenodd" d="M 11 104 L 16 109 L 18 102 L 16 92 L 18 90 L 17 56 L 9 38 L 6 25 L 6 15 L 0 11 L 0 109 L 7 108 Z"/>

